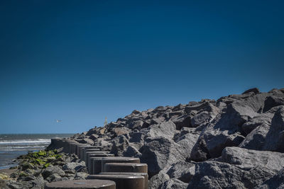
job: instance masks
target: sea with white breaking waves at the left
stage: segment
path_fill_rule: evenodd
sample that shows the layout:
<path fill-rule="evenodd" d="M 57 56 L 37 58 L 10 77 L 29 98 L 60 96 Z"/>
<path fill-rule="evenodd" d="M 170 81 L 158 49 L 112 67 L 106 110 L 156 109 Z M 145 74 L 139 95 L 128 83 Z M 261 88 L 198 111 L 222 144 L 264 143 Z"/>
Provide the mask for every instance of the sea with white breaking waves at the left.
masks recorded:
<path fill-rule="evenodd" d="M 0 169 L 16 166 L 16 158 L 48 147 L 52 138 L 74 134 L 0 134 Z"/>

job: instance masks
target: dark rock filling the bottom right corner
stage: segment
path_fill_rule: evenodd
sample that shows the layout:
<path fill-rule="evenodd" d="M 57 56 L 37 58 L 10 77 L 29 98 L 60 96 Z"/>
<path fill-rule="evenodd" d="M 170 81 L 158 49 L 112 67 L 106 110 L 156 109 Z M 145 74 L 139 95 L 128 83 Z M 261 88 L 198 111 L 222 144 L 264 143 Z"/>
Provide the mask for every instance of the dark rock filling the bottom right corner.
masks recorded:
<path fill-rule="evenodd" d="M 284 188 L 284 168 L 280 170 L 275 176 L 268 179 L 261 185 L 258 185 L 256 188 L 259 189 L 283 189 Z"/>

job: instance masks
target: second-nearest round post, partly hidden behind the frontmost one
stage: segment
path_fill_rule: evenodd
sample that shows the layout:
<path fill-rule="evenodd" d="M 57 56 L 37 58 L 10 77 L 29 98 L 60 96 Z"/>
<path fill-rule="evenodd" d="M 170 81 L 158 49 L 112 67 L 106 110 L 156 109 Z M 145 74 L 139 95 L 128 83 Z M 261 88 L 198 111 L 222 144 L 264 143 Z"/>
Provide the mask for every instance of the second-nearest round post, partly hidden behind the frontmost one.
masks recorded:
<path fill-rule="evenodd" d="M 144 177 L 132 175 L 90 175 L 86 179 L 110 180 L 116 183 L 116 189 L 144 189 Z"/>

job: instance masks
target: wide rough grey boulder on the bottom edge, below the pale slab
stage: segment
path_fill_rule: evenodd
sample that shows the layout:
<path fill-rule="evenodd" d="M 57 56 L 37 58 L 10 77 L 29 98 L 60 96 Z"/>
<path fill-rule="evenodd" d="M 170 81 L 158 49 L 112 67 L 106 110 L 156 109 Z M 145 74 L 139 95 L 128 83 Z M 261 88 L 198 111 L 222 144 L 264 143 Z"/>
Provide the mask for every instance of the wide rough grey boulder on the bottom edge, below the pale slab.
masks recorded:
<path fill-rule="evenodd" d="M 244 171 L 236 166 L 217 162 L 204 161 L 195 166 L 187 189 L 191 188 L 254 188 L 273 176 L 273 172 L 265 167 L 253 167 Z"/>

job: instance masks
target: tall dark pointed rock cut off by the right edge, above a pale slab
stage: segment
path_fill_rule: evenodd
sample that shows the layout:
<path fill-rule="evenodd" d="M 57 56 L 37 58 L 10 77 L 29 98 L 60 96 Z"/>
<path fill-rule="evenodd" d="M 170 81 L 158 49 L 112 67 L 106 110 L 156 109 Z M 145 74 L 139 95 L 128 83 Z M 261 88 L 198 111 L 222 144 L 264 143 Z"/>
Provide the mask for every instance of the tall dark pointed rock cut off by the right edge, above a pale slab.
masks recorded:
<path fill-rule="evenodd" d="M 275 113 L 263 150 L 284 152 L 284 106 Z"/>

